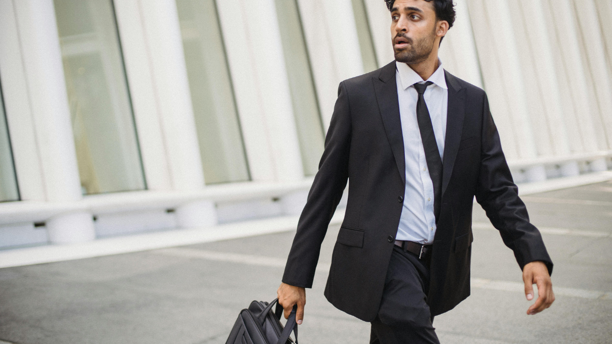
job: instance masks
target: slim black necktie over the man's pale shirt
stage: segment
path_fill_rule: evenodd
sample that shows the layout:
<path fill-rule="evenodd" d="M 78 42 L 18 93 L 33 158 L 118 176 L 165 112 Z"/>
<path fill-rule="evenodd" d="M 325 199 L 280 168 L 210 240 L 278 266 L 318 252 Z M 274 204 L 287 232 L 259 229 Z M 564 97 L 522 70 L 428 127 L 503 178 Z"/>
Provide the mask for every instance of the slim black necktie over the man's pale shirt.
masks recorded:
<path fill-rule="evenodd" d="M 440 216 L 440 199 L 442 198 L 442 159 L 438 151 L 438 143 L 436 135 L 433 133 L 433 125 L 427 104 L 425 103 L 425 89 L 433 84 L 431 81 L 427 83 L 414 84 L 414 88 L 419 93 L 419 101 L 417 102 L 417 121 L 419 122 L 419 131 L 421 140 L 423 140 L 423 148 L 425 149 L 425 160 L 427 160 L 427 168 L 429 168 L 429 176 L 433 182 L 433 214 L 436 215 L 436 222 Z"/>

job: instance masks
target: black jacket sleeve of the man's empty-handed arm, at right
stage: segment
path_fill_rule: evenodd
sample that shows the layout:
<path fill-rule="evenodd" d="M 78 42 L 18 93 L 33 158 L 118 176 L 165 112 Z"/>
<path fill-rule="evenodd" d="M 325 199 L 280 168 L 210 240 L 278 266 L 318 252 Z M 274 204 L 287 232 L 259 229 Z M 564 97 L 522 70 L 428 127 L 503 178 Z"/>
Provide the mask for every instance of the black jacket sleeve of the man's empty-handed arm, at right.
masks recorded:
<path fill-rule="evenodd" d="M 486 94 L 482 106 L 482 148 L 476 201 L 499 230 L 504 244 L 514 251 L 521 270 L 532 261 L 543 261 L 552 274 L 553 262 L 540 231 L 529 223 L 527 208 L 518 197 L 518 187 L 512 181 Z"/>

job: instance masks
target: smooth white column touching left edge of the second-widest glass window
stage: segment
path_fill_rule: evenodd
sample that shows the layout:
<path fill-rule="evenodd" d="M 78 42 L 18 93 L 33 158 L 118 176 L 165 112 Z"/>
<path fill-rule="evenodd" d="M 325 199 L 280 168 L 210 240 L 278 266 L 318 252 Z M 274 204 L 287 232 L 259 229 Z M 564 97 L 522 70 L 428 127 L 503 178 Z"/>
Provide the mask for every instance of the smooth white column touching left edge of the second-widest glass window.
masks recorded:
<path fill-rule="evenodd" d="M 144 36 L 162 124 L 173 189 L 204 187 L 185 56 L 174 0 L 139 0 Z"/>

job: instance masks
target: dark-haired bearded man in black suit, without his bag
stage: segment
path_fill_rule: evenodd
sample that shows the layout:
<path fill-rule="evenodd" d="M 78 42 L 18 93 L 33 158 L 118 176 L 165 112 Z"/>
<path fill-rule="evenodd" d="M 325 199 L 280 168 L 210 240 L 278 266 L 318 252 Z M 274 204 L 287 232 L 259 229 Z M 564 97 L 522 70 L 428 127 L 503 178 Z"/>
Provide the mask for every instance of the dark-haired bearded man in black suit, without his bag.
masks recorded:
<path fill-rule="evenodd" d="M 550 307 L 553 263 L 529 223 L 487 95 L 444 71 L 452 0 L 386 0 L 395 61 L 340 83 L 319 171 L 278 299 L 288 316 L 312 286 L 321 242 L 350 179 L 325 296 L 371 322 L 370 343 L 439 343 L 433 316 L 469 296 L 472 200 L 521 269 L 528 314 Z"/>

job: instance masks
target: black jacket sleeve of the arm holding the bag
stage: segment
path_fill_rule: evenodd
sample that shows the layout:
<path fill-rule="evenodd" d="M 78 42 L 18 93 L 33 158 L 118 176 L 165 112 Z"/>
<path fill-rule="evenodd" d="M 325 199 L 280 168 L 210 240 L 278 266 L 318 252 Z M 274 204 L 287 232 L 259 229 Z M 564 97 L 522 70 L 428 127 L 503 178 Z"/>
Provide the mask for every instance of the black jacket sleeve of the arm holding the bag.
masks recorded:
<path fill-rule="evenodd" d="M 346 86 L 340 83 L 319 171 L 297 223 L 297 233 L 285 265 L 283 283 L 312 288 L 321 242 L 348 180 L 350 146 L 351 111 Z"/>

